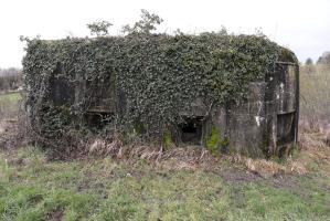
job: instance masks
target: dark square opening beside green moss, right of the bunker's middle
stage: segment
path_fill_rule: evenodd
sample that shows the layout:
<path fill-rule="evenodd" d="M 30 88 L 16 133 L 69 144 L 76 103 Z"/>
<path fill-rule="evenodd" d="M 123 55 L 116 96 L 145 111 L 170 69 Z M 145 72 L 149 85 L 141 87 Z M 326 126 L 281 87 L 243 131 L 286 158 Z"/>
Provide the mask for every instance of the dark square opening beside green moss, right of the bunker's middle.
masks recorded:
<path fill-rule="evenodd" d="M 202 143 L 202 124 L 203 117 L 189 117 L 184 124 L 180 125 L 181 141 L 189 145 L 201 145 Z"/>

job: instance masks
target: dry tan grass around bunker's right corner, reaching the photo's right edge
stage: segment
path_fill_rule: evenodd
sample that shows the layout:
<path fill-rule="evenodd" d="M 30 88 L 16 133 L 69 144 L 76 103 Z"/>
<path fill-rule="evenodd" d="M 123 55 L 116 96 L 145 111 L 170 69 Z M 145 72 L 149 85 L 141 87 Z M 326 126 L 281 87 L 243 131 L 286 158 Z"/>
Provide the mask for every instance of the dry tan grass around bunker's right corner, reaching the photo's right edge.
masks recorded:
<path fill-rule="evenodd" d="M 247 171 L 268 178 L 277 175 L 305 175 L 311 172 L 310 164 L 322 162 L 330 165 L 330 133 L 324 128 L 302 127 L 299 135 L 298 154 L 287 159 L 266 160 L 252 159 L 241 155 L 228 156 L 228 160 L 235 165 L 243 165 Z"/>

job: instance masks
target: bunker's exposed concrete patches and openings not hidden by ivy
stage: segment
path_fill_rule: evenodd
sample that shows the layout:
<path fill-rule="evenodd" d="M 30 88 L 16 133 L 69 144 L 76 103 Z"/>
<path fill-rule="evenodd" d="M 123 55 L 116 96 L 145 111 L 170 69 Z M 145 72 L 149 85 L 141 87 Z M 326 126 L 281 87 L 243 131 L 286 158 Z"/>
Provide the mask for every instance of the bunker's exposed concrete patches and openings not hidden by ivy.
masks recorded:
<path fill-rule="evenodd" d="M 56 105 L 79 103 L 82 93 L 91 91 L 86 115 L 82 116 L 91 127 L 100 128 L 125 108 L 125 97 L 116 95 L 110 74 L 102 80 L 81 81 L 74 87 L 61 78 L 51 81 L 51 96 Z M 202 99 L 192 106 L 194 117 L 182 113 L 185 123 L 178 125 L 175 140 L 180 144 L 205 145 L 212 127 L 216 127 L 220 140 L 228 141 L 226 147 L 219 144 L 219 149 L 259 157 L 284 155 L 298 137 L 299 67 L 294 54 L 283 54 L 264 81 L 249 83 L 246 102 L 222 106 L 212 117 L 206 117 Z"/>

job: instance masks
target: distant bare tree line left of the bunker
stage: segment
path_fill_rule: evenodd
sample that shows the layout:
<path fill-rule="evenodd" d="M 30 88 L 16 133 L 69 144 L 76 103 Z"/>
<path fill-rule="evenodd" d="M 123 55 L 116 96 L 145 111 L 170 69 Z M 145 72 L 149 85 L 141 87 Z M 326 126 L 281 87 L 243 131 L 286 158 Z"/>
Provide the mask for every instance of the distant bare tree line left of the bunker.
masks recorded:
<path fill-rule="evenodd" d="M 0 92 L 18 90 L 21 86 L 21 70 L 0 69 Z"/>

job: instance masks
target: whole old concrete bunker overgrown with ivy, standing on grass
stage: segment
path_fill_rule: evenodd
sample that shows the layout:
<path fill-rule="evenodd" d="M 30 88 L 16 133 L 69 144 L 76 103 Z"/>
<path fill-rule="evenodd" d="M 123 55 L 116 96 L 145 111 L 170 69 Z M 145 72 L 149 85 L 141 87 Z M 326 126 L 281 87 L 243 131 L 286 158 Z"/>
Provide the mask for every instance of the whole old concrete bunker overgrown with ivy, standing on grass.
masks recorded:
<path fill-rule="evenodd" d="M 216 44 L 212 49 L 211 40 Z M 256 42 L 269 48 L 259 50 Z M 297 143 L 298 61 L 294 53 L 265 39 L 210 34 L 38 40 L 31 42 L 29 50 L 24 72 L 29 78 L 26 87 L 32 88 L 29 105 L 39 110 L 31 113 L 31 122 L 38 123 L 39 128 L 47 122 L 46 112 L 51 108 L 54 114 L 63 110 L 58 115 L 70 118 L 63 123 L 67 128 L 87 129 L 87 126 L 95 131 L 111 126 L 114 119 L 121 124 L 121 119 L 135 113 L 128 122 L 142 128 L 139 133 L 160 126 L 162 130 L 157 133 L 170 134 L 178 145 L 212 146 L 224 152 L 270 157 L 285 155 Z M 40 61 L 39 50 L 46 52 L 44 61 Z M 226 69 L 224 64 L 242 65 Z M 236 84 L 231 87 L 226 83 Z M 185 87 L 190 84 L 193 86 Z M 242 91 L 241 85 L 244 85 Z M 150 88 L 149 94 L 143 94 Z M 235 94 L 236 103 L 222 98 L 231 93 Z M 244 93 L 245 96 L 238 96 Z M 141 96 L 143 103 L 138 101 Z M 158 107 L 157 102 L 161 108 L 153 108 Z M 175 108 L 178 105 L 180 108 Z M 167 117 L 161 118 L 163 113 Z M 153 125 L 148 125 L 150 117 Z M 56 136 L 61 138 L 62 134 Z"/>

